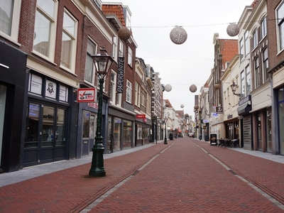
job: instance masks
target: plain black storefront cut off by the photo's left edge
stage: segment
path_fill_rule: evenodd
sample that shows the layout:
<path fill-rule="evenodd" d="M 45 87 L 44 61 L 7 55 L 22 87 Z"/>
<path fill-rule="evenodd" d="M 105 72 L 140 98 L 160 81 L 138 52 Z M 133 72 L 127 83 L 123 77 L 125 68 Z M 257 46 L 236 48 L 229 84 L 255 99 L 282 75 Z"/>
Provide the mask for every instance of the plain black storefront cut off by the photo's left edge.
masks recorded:
<path fill-rule="evenodd" d="M 27 56 L 1 41 L 0 50 L 0 172 L 13 172 L 23 167 Z"/>

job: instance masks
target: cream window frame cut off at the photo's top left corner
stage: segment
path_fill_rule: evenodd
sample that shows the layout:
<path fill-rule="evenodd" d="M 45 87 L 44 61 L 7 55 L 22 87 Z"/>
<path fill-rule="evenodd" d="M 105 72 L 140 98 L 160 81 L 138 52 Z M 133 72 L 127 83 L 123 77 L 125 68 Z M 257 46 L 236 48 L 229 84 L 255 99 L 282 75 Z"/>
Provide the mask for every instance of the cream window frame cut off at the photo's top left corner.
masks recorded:
<path fill-rule="evenodd" d="M 0 35 L 4 38 L 11 40 L 11 42 L 16 43 L 16 45 L 20 45 L 18 43 L 18 30 L 20 26 L 20 15 L 21 15 L 21 4 L 22 0 L 14 0 L 13 1 L 13 17 L 11 23 L 11 35 L 8 35 L 2 31 L 0 31 Z"/>

